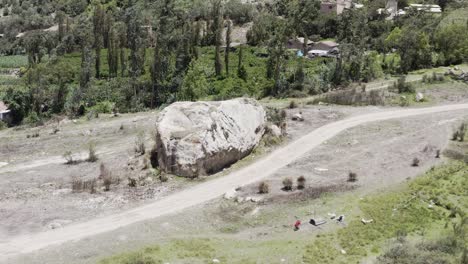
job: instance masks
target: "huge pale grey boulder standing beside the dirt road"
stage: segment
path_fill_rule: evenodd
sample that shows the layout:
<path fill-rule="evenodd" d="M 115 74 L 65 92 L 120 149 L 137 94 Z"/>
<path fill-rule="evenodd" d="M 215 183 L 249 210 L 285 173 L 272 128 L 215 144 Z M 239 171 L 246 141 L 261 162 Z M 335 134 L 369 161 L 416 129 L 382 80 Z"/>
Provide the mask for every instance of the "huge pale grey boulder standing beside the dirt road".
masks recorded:
<path fill-rule="evenodd" d="M 218 172 L 255 148 L 265 130 L 265 116 L 253 99 L 174 103 L 158 119 L 158 165 L 186 177 Z"/>

